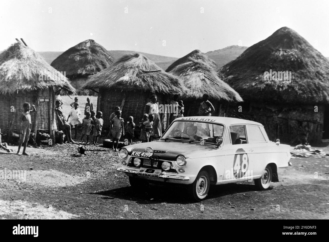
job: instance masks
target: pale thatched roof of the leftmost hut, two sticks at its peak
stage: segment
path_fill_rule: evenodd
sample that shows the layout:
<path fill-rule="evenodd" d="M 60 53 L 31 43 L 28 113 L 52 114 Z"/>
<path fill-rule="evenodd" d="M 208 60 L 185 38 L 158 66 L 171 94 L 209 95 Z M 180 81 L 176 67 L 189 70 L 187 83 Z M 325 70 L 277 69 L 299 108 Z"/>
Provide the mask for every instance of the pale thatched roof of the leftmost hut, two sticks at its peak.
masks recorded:
<path fill-rule="evenodd" d="M 48 80 L 47 80 L 48 79 Z M 13 94 L 49 87 L 74 93 L 66 77 L 51 67 L 36 51 L 15 43 L 0 54 L 0 93 Z"/>

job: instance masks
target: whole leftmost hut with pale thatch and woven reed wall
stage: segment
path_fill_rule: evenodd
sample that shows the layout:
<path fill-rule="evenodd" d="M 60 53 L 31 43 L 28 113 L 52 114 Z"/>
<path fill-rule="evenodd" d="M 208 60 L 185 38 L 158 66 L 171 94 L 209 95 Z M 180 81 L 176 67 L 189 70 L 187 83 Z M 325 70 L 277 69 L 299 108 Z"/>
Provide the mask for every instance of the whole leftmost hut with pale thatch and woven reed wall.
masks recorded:
<path fill-rule="evenodd" d="M 0 128 L 19 132 L 23 103 L 35 104 L 32 130 L 52 134 L 54 129 L 54 91 L 74 93 L 67 78 L 51 67 L 37 52 L 18 42 L 0 54 Z"/>

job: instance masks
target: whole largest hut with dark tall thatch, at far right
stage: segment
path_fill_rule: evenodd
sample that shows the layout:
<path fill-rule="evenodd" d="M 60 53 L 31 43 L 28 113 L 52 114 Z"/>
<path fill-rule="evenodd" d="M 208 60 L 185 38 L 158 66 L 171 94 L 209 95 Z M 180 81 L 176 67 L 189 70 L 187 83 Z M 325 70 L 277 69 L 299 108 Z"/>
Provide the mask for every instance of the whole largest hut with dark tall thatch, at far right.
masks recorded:
<path fill-rule="evenodd" d="M 313 143 L 320 141 L 323 105 L 329 103 L 329 62 L 292 29 L 280 28 L 252 45 L 223 66 L 219 75 L 249 105 L 244 115 L 267 123 L 272 139 L 288 141 L 299 129 Z"/>

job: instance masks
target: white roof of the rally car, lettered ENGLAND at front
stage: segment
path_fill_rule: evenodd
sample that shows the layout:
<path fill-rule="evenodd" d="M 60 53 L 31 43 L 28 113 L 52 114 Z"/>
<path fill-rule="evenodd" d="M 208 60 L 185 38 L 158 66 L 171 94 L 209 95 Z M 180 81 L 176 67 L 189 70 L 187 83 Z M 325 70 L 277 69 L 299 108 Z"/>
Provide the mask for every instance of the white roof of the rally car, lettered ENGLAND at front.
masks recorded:
<path fill-rule="evenodd" d="M 232 125 L 232 124 L 254 124 L 263 126 L 263 124 L 255 121 L 245 120 L 245 119 L 237 119 L 237 118 L 228 118 L 228 117 L 216 117 L 216 116 L 191 116 L 191 117 L 182 117 L 177 118 L 178 120 L 187 120 L 187 121 L 208 121 L 215 123 L 222 123 L 224 125 Z"/>

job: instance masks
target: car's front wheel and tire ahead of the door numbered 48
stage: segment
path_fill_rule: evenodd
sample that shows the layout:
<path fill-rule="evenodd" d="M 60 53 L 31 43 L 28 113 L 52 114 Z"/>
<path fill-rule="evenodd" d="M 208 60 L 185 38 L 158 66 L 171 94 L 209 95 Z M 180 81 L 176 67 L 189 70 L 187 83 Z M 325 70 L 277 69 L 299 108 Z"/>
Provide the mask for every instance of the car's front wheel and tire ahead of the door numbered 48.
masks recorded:
<path fill-rule="evenodd" d="M 200 171 L 195 181 L 189 185 L 190 198 L 195 201 L 204 200 L 208 196 L 210 188 L 210 178 L 207 171 Z"/>

